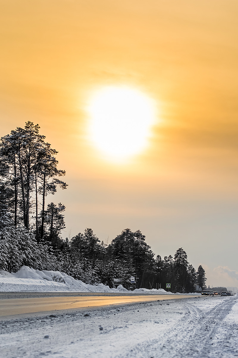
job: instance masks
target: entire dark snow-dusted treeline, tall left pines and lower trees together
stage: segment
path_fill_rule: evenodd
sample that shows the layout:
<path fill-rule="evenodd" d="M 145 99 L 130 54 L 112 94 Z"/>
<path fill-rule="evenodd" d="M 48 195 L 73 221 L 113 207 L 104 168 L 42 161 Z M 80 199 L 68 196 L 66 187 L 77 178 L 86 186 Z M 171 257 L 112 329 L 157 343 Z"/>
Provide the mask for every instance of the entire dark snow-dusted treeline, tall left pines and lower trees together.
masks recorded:
<path fill-rule="evenodd" d="M 205 287 L 205 271 L 196 271 L 187 254 L 179 248 L 174 256 L 154 257 L 145 236 L 125 229 L 106 245 L 85 229 L 68 240 L 61 238 L 65 228 L 65 206 L 45 205 L 45 198 L 56 192 L 65 175 L 57 169 L 57 152 L 39 135 L 39 126 L 27 122 L 0 142 L 0 269 L 17 271 L 27 265 L 34 269 L 59 270 L 86 283 L 114 286 L 120 279 L 131 289 L 136 287 L 194 292 Z"/>

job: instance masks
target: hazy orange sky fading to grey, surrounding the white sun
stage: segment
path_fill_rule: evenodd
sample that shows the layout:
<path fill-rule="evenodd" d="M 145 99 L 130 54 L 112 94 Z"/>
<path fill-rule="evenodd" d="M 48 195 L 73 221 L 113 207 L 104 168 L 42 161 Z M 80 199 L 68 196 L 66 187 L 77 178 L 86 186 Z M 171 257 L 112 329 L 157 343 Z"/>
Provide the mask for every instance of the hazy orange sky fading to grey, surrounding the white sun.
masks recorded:
<path fill-rule="evenodd" d="M 238 271 L 237 15 L 237 0 L 0 0 L 1 135 L 31 120 L 59 151 L 64 237 L 140 229 L 156 254 Z M 86 133 L 108 84 L 159 108 L 148 149 L 120 165 Z"/>

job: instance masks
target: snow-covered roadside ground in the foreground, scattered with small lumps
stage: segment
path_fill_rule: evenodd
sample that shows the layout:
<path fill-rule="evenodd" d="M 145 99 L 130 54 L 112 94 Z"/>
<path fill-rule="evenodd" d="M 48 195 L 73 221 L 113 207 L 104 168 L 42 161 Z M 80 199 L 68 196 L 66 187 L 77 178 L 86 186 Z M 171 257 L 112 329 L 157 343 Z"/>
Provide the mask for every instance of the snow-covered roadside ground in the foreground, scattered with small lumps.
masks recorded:
<path fill-rule="evenodd" d="M 84 316 L 86 313 L 89 316 Z M 237 296 L 201 296 L 51 314 L 54 316 L 2 320 L 0 357 L 238 356 Z"/>

